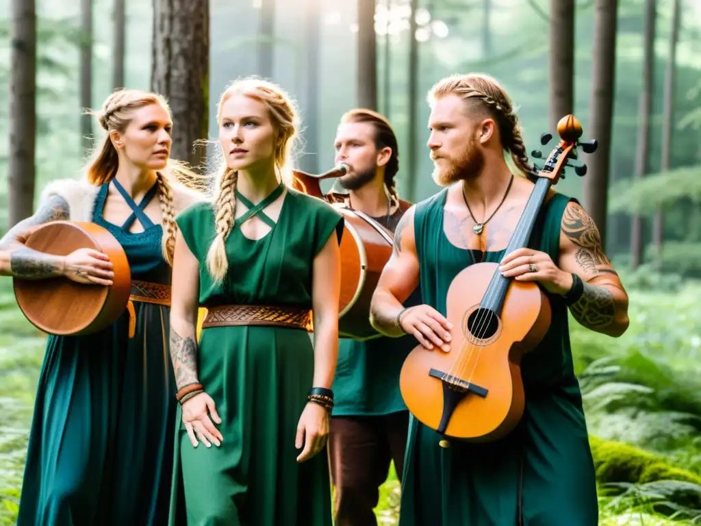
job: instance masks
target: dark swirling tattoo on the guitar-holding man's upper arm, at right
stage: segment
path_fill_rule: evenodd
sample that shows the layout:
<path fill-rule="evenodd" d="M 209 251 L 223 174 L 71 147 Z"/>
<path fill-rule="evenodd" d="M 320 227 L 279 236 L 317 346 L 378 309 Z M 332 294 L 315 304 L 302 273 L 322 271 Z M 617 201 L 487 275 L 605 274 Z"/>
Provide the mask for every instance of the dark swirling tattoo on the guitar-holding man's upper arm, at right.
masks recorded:
<path fill-rule="evenodd" d="M 601 270 L 597 267 L 611 265 L 604 254 L 604 249 L 601 248 L 601 236 L 597 224 L 580 205 L 574 204 L 565 208 L 561 228 L 565 236 L 577 246 L 574 257 L 583 271 L 599 274 Z"/>

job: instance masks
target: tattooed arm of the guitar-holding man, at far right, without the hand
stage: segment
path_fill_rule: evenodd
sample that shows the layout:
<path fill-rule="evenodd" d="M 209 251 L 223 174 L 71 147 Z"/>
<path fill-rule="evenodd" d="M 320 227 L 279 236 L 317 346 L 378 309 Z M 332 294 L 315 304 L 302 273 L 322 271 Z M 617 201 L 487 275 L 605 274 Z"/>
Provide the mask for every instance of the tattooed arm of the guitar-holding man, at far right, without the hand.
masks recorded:
<path fill-rule="evenodd" d="M 618 337 L 628 328 L 628 295 L 601 246 L 594 220 L 577 203 L 562 216 L 559 267 L 577 274 L 584 292 L 569 309 L 586 328 Z"/>

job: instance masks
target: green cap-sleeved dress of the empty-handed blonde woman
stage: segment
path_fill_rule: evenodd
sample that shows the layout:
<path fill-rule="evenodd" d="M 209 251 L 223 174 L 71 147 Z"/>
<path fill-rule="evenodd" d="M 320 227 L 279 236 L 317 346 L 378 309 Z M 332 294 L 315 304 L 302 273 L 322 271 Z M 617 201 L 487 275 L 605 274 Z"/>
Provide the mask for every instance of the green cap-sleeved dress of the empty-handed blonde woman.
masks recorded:
<path fill-rule="evenodd" d="M 243 196 L 238 199 L 245 203 Z M 238 224 L 234 227 L 226 240 L 229 274 L 222 285 L 212 282 L 205 264 L 215 237 L 212 205 L 193 205 L 177 217 L 200 262 L 200 306 L 311 309 L 313 259 L 334 230 L 340 241 L 341 214 L 320 199 L 288 189 L 276 224 L 264 212 L 257 217 L 271 231 L 253 241 Z M 219 447 L 193 447 L 180 419 L 173 504 L 184 499 L 189 526 L 331 526 L 326 450 L 300 464 L 301 450 L 294 447 L 313 374 L 314 349 L 305 330 L 261 325 L 203 329 L 198 377 L 215 401 L 222 418 L 215 425 L 224 440 Z"/>

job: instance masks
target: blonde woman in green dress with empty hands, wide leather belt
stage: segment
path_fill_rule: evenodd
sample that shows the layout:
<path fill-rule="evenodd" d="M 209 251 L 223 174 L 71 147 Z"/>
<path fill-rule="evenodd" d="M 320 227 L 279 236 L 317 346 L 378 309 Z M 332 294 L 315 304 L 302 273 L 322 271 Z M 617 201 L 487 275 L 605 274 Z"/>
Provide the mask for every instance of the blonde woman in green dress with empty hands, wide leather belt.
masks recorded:
<path fill-rule="evenodd" d="M 182 424 L 173 505 L 184 499 L 189 526 L 332 524 L 321 452 L 343 219 L 288 186 L 294 121 L 278 86 L 233 83 L 219 102 L 215 204 L 177 217 L 170 326 Z M 197 343 L 198 306 L 207 316 Z"/>

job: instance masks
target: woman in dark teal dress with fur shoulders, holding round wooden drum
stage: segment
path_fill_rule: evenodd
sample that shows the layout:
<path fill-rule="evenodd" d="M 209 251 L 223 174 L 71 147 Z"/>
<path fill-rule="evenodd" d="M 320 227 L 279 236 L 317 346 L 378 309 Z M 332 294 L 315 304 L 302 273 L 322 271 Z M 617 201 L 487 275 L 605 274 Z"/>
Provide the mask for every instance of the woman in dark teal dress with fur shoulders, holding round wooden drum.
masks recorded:
<path fill-rule="evenodd" d="M 174 216 L 199 198 L 171 178 L 172 120 L 162 97 L 117 91 L 104 102 L 100 125 L 107 137 L 86 177 L 50 184 L 39 211 L 0 241 L 4 276 L 109 285 L 111 263 L 101 252 L 57 257 L 22 244 L 41 223 L 94 222 L 121 243 L 132 277 L 129 308 L 112 325 L 90 335 L 48 337 L 19 526 L 168 521 L 176 405 L 167 344 Z"/>

